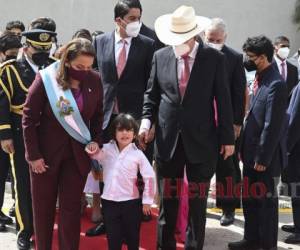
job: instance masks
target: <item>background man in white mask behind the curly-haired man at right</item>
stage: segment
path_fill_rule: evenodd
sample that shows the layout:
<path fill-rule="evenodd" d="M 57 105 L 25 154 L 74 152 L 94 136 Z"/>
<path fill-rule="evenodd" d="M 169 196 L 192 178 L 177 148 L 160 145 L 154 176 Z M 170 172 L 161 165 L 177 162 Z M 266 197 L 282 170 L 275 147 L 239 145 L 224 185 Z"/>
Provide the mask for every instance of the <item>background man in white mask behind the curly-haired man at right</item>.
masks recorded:
<path fill-rule="evenodd" d="M 287 58 L 290 53 L 290 40 L 285 36 L 278 36 L 274 40 L 273 66 L 286 82 L 288 95 L 291 97 L 294 87 L 298 84 L 298 69 Z"/>

